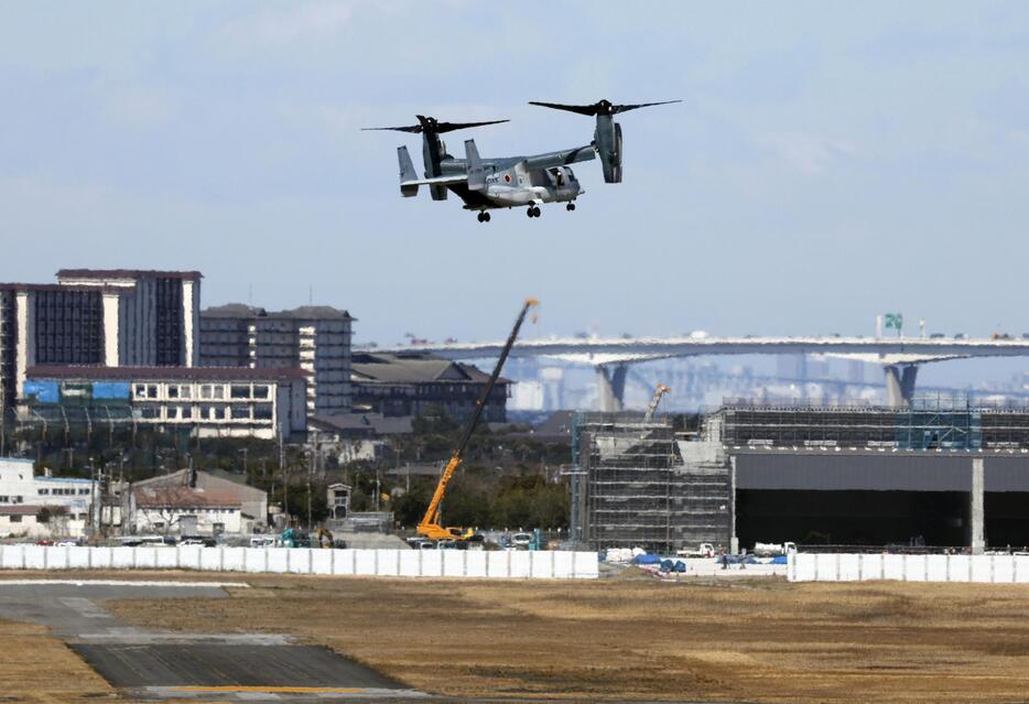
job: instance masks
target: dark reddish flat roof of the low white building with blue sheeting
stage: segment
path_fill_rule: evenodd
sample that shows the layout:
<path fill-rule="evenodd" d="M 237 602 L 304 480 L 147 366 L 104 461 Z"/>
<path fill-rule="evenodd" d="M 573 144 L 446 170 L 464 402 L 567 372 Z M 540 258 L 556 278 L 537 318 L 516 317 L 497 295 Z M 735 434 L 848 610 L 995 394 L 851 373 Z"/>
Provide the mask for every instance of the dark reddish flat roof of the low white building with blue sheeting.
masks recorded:
<path fill-rule="evenodd" d="M 280 381 L 306 379 L 303 369 L 249 367 L 100 367 L 86 365 L 40 365 L 29 367 L 25 376 L 34 379 L 104 379 L 116 381 L 162 381 L 193 379 L 201 381 Z"/>

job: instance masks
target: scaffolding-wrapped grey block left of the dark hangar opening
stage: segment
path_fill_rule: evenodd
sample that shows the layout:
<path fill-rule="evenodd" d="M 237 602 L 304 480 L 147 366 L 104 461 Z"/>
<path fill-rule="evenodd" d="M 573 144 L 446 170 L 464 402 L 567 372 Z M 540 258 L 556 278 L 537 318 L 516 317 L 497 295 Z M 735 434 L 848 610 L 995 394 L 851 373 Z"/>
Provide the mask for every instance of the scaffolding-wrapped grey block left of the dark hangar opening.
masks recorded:
<path fill-rule="evenodd" d="M 578 413 L 573 427 L 572 506 L 582 527 L 573 526 L 591 548 L 671 553 L 728 540 L 729 475 L 721 446 L 686 442 L 668 418 Z"/>

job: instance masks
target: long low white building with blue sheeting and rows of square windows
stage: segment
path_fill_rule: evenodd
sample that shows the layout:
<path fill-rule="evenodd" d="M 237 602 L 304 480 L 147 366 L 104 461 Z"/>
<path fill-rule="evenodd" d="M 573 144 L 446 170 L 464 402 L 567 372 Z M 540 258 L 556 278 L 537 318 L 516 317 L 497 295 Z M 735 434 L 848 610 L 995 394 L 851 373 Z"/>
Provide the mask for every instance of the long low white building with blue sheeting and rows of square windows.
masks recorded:
<path fill-rule="evenodd" d="M 289 438 L 306 432 L 306 378 L 300 369 L 30 367 L 23 421 L 142 423 L 201 437 Z"/>

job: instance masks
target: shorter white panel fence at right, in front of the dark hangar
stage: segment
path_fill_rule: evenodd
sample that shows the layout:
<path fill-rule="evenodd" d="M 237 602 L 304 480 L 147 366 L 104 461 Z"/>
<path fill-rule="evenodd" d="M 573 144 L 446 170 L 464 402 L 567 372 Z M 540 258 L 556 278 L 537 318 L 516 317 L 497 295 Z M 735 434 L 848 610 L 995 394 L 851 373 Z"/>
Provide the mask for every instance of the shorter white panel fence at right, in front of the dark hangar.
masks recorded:
<path fill-rule="evenodd" d="M 1029 555 L 793 553 L 790 582 L 990 582 L 1029 584 Z"/>

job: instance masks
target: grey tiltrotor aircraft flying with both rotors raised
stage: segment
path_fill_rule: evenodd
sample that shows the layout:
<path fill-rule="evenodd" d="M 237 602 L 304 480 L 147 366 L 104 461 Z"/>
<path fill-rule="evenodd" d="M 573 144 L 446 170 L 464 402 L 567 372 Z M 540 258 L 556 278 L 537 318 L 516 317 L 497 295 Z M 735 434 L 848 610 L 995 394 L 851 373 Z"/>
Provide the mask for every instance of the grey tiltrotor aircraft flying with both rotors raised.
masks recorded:
<path fill-rule="evenodd" d="M 422 136 L 422 160 L 425 172 L 419 178 L 407 147 L 397 149 L 400 162 L 400 193 L 404 197 L 418 195 L 420 186 L 429 186 L 433 201 L 446 201 L 453 192 L 466 210 L 476 210 L 479 223 L 490 220 L 489 210 L 527 206 L 529 217 L 540 217 L 540 205 L 564 203 L 568 210 L 575 209 L 575 199 L 584 193 L 568 164 L 591 161 L 597 156 L 604 170 L 606 183 L 621 183 L 621 126 L 614 116 L 637 108 L 681 102 L 643 102 L 639 105 L 613 105 L 600 100 L 594 105 L 562 105 L 556 102 L 530 102 L 555 110 L 596 117 L 594 141 L 584 147 L 534 154 L 531 156 L 503 156 L 484 159 L 479 156 L 475 140 L 465 141 L 465 158 L 456 159 L 446 151 L 440 134 L 470 127 L 498 124 L 508 120 L 487 122 L 440 122 L 431 117 L 418 116 L 418 124 L 409 127 L 377 127 L 369 130 L 394 130 Z"/>

